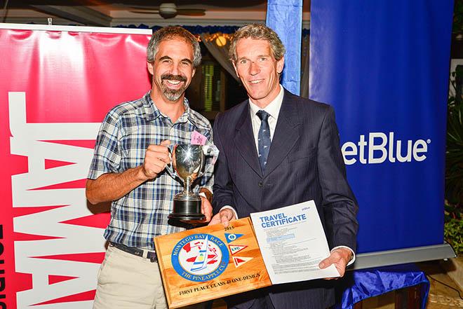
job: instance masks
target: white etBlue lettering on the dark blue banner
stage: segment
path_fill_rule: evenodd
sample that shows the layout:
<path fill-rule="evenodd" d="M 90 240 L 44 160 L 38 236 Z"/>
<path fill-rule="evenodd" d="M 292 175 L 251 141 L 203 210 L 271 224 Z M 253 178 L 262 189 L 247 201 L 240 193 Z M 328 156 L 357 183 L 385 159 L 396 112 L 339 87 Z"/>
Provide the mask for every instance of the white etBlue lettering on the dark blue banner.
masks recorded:
<path fill-rule="evenodd" d="M 421 162 L 427 158 L 428 144 L 431 139 L 401 140 L 394 138 L 394 132 L 371 132 L 367 137 L 360 135 L 358 142 L 345 142 L 341 151 L 346 165 Z"/>

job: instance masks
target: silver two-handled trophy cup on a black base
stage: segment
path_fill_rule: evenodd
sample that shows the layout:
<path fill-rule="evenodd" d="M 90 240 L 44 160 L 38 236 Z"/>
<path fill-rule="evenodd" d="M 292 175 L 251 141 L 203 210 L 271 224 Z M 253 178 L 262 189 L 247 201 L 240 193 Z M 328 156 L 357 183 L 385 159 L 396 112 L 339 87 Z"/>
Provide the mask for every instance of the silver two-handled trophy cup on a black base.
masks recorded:
<path fill-rule="evenodd" d="M 182 221 L 203 221 L 206 216 L 201 213 L 201 197 L 192 191 L 193 182 L 203 175 L 205 163 L 203 146 L 176 144 L 173 146 L 172 163 L 184 184 L 184 190 L 173 198 L 173 212 L 169 219 Z"/>

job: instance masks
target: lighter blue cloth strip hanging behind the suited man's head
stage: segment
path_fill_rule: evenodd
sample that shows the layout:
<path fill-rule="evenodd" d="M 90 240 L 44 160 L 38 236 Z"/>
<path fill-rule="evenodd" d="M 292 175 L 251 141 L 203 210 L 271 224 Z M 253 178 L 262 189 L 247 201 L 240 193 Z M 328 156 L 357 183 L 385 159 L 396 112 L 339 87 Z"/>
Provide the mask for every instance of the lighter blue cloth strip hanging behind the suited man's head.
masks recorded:
<path fill-rule="evenodd" d="M 286 48 L 281 84 L 299 95 L 301 80 L 302 0 L 269 0 L 267 26 L 274 29 Z"/>

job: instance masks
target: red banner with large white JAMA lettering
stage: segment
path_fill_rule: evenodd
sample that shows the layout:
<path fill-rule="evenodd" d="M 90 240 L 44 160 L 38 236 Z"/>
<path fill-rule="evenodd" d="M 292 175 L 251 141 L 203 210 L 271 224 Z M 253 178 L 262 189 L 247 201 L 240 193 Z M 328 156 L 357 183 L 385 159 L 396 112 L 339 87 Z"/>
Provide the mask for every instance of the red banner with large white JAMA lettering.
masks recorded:
<path fill-rule="evenodd" d="M 94 139 L 149 90 L 149 31 L 64 28 L 0 29 L 0 308 L 92 308 L 109 219 L 85 198 Z"/>

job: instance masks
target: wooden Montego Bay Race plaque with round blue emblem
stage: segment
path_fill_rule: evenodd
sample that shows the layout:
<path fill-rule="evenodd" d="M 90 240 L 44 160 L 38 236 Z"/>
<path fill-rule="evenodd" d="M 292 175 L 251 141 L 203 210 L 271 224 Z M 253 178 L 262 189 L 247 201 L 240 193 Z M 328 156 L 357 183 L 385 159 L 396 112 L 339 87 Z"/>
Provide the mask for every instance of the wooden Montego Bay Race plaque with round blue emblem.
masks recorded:
<path fill-rule="evenodd" d="M 250 218 L 154 238 L 169 308 L 268 287 Z"/>

